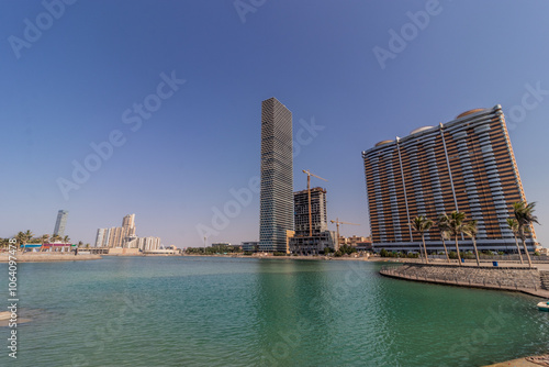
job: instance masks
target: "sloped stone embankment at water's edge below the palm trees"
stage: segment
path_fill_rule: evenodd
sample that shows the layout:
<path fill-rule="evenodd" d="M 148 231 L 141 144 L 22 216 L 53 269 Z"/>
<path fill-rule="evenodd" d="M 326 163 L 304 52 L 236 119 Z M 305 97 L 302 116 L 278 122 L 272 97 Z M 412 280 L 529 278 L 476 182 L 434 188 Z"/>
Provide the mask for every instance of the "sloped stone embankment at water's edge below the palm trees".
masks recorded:
<path fill-rule="evenodd" d="M 522 291 L 549 298 L 549 273 L 537 268 L 406 263 L 402 266 L 385 266 L 380 274 L 407 280 Z"/>

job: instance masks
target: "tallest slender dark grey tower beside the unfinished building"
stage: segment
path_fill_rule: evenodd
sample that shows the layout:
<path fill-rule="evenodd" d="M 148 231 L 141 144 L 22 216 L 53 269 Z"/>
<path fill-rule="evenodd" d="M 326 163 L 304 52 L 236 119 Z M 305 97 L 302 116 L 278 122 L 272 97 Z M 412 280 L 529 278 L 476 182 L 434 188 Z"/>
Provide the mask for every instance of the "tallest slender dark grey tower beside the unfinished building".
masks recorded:
<path fill-rule="evenodd" d="M 259 251 L 287 252 L 293 231 L 292 113 L 276 98 L 261 102 Z"/>

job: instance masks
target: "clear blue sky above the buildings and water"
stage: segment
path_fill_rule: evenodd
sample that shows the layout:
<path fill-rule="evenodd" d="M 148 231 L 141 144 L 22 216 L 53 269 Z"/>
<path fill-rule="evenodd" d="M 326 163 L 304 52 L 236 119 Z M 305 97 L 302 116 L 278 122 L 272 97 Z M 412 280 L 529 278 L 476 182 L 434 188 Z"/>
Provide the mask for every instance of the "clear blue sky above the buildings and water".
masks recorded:
<path fill-rule="evenodd" d="M 303 130 L 294 189 L 328 179 L 328 218 L 360 224 L 345 235 L 370 232 L 362 151 L 502 104 L 549 244 L 549 2 L 72 2 L 0 1 L 0 236 L 65 209 L 85 243 L 130 213 L 166 245 L 258 240 L 259 194 L 229 202 L 276 97 Z"/>

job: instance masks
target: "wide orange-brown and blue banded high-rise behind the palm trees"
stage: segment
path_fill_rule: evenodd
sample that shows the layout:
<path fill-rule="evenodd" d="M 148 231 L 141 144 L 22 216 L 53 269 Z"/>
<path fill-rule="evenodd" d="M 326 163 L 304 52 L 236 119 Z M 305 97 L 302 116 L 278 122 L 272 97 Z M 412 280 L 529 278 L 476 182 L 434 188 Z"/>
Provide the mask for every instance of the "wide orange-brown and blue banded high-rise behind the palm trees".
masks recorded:
<path fill-rule="evenodd" d="M 526 197 L 501 105 L 379 142 L 362 158 L 374 248 L 417 251 L 421 235 L 408 223 L 452 211 L 478 221 L 479 248 L 516 248 L 506 219 Z M 436 225 L 425 240 L 430 251 L 444 248 Z M 467 237 L 459 241 L 460 249 L 472 248 Z"/>

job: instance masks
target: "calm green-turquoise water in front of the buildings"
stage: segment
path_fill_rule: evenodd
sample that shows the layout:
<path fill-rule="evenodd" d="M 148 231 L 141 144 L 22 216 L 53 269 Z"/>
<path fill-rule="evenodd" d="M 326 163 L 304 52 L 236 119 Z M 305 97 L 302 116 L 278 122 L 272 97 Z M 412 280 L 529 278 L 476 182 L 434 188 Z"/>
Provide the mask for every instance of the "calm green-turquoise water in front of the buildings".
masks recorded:
<path fill-rule="evenodd" d="M 549 349 L 518 293 L 382 278 L 361 262 L 181 257 L 20 264 L 0 366 L 482 366 Z M 5 302 L 8 267 L 0 264 Z M 3 307 L 2 307 L 3 308 Z"/>

